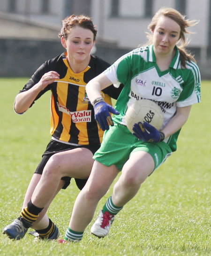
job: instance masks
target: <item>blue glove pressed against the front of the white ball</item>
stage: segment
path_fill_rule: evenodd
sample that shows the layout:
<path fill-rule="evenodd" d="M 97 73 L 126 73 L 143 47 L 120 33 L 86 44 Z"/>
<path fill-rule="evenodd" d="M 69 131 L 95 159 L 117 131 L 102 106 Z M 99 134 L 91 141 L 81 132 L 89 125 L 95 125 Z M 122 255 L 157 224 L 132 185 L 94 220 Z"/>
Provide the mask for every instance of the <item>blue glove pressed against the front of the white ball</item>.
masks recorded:
<path fill-rule="evenodd" d="M 165 139 L 163 132 L 159 132 L 154 126 L 148 124 L 147 122 L 138 122 L 133 125 L 133 135 L 135 135 L 139 140 L 146 142 L 160 142 Z"/>

